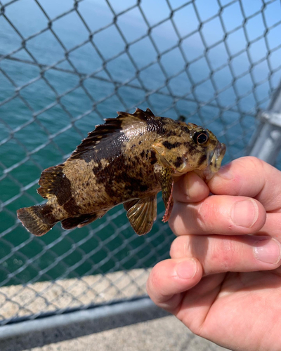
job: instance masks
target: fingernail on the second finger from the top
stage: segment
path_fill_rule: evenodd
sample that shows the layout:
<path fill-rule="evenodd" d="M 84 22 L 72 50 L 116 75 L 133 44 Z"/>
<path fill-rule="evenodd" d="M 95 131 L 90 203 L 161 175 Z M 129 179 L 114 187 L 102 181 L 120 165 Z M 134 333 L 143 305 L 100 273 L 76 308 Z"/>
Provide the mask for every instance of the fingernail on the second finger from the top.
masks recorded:
<path fill-rule="evenodd" d="M 259 207 L 252 199 L 235 202 L 230 218 L 235 225 L 251 228 L 259 217 Z"/>

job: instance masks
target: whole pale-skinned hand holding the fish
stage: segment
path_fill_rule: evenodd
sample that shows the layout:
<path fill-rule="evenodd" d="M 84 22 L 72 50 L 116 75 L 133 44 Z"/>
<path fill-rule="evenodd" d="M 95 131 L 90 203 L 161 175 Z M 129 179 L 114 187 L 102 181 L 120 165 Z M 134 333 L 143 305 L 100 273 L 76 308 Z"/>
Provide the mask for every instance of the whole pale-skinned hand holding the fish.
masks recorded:
<path fill-rule="evenodd" d="M 150 273 L 150 298 L 230 350 L 280 351 L 281 172 L 243 157 L 208 185 L 186 174 L 174 201 L 177 238 Z"/>

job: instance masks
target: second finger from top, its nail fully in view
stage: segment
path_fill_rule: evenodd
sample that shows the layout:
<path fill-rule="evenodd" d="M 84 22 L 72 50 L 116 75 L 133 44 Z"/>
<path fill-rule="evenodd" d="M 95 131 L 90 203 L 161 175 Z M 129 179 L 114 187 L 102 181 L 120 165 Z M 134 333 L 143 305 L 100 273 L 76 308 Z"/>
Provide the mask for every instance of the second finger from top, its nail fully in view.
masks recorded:
<path fill-rule="evenodd" d="M 176 235 L 252 234 L 266 222 L 266 210 L 256 199 L 214 195 L 196 204 L 176 201 L 169 225 Z"/>

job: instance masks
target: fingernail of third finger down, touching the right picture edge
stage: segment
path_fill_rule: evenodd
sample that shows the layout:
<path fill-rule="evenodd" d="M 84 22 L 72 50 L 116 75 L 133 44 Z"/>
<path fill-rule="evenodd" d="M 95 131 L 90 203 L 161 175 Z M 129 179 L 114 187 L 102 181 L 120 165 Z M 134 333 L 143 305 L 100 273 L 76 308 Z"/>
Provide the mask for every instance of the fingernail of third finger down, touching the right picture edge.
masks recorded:
<path fill-rule="evenodd" d="M 281 258 L 281 247 L 279 241 L 275 239 L 256 241 L 254 255 L 257 260 L 265 263 L 276 264 Z"/>

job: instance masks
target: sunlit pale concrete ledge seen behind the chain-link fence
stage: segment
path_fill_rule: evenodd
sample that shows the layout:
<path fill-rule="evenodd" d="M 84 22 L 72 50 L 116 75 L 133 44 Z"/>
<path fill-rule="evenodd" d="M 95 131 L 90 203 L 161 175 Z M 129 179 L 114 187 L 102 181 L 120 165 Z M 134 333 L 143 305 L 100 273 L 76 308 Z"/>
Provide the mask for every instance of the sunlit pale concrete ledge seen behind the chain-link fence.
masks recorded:
<path fill-rule="evenodd" d="M 25 318 L 42 312 L 52 313 L 143 296 L 146 294 L 145 284 L 149 272 L 138 269 L 55 282 L 2 286 L 0 319 Z"/>

